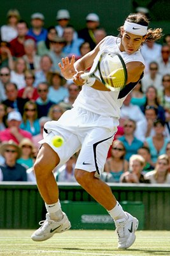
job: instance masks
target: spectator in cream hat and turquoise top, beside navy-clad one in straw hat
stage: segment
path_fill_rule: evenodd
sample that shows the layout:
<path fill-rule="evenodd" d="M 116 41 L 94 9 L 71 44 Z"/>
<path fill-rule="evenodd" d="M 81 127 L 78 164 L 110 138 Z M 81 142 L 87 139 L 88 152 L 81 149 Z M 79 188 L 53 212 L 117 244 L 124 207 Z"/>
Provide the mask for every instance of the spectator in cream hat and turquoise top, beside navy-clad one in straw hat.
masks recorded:
<path fill-rule="evenodd" d="M 25 166 L 26 169 L 31 168 L 34 164 L 32 154 L 34 145 L 31 140 L 24 138 L 18 145 L 21 149 L 21 156 L 18 158 L 17 163 Z"/>

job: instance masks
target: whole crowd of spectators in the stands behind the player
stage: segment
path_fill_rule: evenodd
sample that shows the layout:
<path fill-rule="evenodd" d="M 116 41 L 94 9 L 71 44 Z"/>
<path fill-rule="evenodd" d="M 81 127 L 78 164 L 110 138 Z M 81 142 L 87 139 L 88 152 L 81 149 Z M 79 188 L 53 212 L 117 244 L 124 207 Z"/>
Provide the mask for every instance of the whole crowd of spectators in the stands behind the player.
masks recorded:
<path fill-rule="evenodd" d="M 76 31 L 68 10 L 59 10 L 57 25 L 45 28 L 42 13 L 31 14 L 31 27 L 18 10 L 7 13 L 0 28 L 0 181 L 36 182 L 33 164 L 43 126 L 59 120 L 81 91 L 60 74 L 58 63 L 76 60 L 107 36 L 96 13 Z M 170 184 L 170 35 L 164 43 L 141 47 L 145 76 L 127 95 L 120 125 L 108 152 L 101 179 L 106 182 Z M 76 182 L 78 153 L 53 170 L 59 182 Z"/>

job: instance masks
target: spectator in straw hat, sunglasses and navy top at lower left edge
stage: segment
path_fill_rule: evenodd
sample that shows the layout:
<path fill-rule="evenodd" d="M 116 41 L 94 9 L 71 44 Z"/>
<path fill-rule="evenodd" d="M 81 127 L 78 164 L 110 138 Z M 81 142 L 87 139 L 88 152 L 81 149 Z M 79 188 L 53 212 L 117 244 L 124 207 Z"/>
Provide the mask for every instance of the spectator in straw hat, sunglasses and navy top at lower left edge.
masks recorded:
<path fill-rule="evenodd" d="M 1 181 L 27 181 L 27 173 L 24 166 L 17 163 L 20 157 L 20 148 L 12 140 L 2 143 L 0 154 L 5 163 L 0 165 Z"/>

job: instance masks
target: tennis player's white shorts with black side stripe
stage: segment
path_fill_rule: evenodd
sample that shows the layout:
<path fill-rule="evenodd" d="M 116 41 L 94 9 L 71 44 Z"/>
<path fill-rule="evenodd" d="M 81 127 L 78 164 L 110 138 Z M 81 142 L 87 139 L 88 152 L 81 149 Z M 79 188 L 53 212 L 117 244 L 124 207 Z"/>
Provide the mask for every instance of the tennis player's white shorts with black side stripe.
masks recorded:
<path fill-rule="evenodd" d="M 117 132 L 118 120 L 108 116 L 97 115 L 85 109 L 73 108 L 64 112 L 58 121 L 45 124 L 44 139 L 39 143 L 48 143 L 60 157 L 60 164 L 80 154 L 75 168 L 95 172 L 99 177 L 104 169 L 108 150 Z M 64 138 L 62 147 L 54 147 L 52 138 L 60 135 Z"/>

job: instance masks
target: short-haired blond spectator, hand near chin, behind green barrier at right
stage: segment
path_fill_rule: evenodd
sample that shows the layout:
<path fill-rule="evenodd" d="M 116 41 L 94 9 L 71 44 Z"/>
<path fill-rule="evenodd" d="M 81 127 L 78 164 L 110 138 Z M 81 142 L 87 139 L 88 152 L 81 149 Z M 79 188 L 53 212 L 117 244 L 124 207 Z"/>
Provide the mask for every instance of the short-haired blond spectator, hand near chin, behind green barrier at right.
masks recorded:
<path fill-rule="evenodd" d="M 120 182 L 127 183 L 150 183 L 145 179 L 142 171 L 145 166 L 145 159 L 139 155 L 133 155 L 129 159 L 129 172 L 125 172 L 120 177 Z"/>

